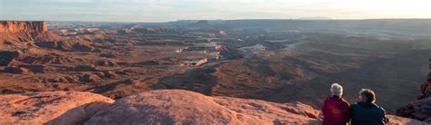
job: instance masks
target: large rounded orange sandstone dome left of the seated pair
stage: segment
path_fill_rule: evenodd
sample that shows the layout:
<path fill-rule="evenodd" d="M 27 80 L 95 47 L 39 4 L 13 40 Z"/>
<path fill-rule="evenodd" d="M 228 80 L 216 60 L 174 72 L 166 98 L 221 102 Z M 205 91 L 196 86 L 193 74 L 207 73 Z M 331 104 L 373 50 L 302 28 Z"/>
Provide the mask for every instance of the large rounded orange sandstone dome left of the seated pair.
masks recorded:
<path fill-rule="evenodd" d="M 85 124 L 318 124 L 318 115 L 319 111 L 299 102 L 280 104 L 164 90 L 115 101 Z"/>

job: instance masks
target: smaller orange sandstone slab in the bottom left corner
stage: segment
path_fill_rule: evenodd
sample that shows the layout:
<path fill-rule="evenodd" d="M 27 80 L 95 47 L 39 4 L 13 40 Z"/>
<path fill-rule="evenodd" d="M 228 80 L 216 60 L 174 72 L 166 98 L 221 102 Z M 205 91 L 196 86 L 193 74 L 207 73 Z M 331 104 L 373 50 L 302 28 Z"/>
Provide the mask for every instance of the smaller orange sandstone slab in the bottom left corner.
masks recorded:
<path fill-rule="evenodd" d="M 0 124 L 81 124 L 114 101 L 77 91 L 0 95 Z"/>

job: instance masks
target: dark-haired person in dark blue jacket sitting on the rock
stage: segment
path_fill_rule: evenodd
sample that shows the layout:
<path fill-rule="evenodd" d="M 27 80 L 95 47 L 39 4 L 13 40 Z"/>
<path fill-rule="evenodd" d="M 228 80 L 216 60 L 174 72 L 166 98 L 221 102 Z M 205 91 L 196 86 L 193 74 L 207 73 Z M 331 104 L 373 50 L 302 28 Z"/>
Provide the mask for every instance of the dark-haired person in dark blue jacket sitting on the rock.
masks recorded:
<path fill-rule="evenodd" d="M 376 105 L 376 94 L 369 89 L 359 92 L 359 101 L 350 106 L 352 125 L 383 125 L 389 120 L 386 111 Z"/>

